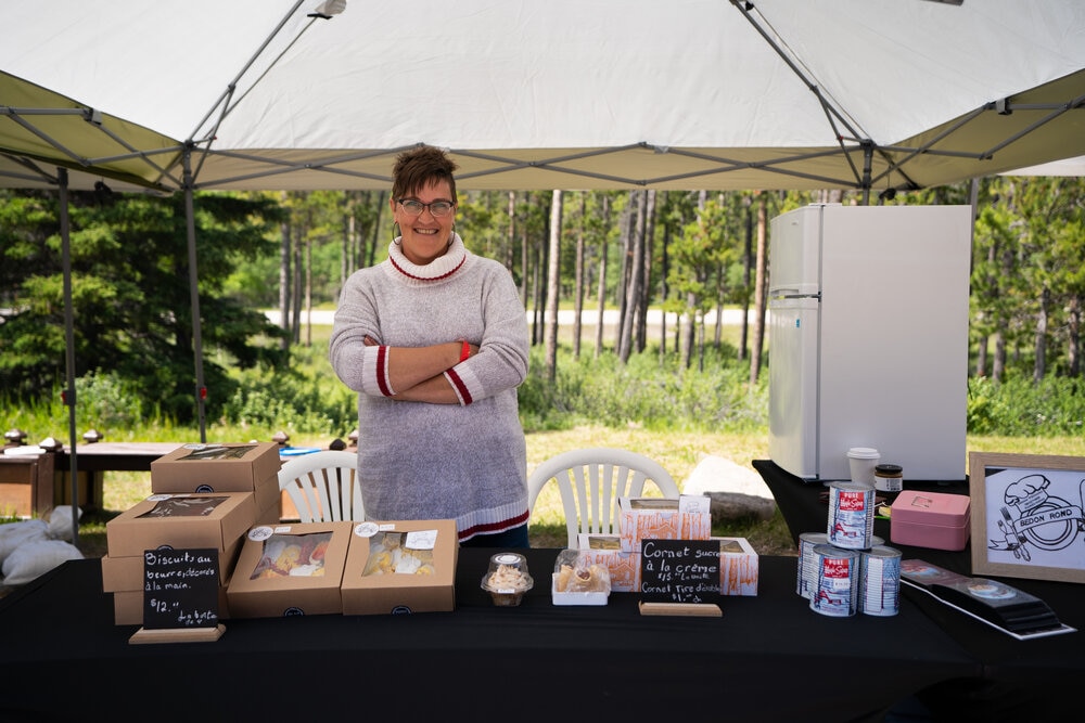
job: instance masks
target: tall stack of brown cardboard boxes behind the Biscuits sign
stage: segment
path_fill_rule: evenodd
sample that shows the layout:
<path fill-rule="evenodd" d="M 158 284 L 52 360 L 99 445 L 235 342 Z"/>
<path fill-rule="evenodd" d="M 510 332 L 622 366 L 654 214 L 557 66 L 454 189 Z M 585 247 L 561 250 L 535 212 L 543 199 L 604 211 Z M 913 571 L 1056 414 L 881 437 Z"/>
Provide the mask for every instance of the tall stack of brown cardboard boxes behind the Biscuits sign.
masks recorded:
<path fill-rule="evenodd" d="M 279 446 L 184 444 L 151 463 L 151 496 L 105 526 L 102 586 L 118 625 L 143 622 L 143 554 L 214 548 L 219 555 L 219 618 L 242 541 L 254 525 L 279 520 Z"/>

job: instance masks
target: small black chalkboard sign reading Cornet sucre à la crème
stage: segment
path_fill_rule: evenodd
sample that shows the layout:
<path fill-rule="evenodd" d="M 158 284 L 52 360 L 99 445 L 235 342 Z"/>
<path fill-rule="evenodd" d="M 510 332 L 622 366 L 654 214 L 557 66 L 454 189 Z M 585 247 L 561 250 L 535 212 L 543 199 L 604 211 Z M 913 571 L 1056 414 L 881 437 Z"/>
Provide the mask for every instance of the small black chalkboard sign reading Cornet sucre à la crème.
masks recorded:
<path fill-rule="evenodd" d="M 640 594 L 653 603 L 716 603 L 718 540 L 642 540 Z"/>

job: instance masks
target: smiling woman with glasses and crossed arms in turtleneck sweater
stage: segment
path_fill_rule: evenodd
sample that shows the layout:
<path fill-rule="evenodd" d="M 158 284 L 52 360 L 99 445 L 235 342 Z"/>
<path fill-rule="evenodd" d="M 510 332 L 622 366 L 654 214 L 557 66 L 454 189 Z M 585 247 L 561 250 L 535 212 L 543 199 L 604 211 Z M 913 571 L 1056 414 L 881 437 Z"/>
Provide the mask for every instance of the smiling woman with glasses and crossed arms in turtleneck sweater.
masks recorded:
<path fill-rule="evenodd" d="M 344 285 L 329 357 L 359 392 L 367 517 L 455 519 L 461 543 L 526 547 L 527 320 L 509 271 L 454 231 L 454 170 L 439 149 L 396 158 L 399 235 Z"/>

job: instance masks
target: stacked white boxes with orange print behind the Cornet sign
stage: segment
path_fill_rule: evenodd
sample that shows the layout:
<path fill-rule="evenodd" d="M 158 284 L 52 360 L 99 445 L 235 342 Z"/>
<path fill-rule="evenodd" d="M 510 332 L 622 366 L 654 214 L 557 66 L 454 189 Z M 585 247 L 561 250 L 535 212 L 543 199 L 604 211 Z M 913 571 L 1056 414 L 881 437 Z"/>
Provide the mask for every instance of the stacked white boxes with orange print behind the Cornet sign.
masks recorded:
<path fill-rule="evenodd" d="M 718 540 L 719 594 L 757 594 L 757 553 L 745 538 L 712 537 L 707 496 L 621 498 L 618 505 L 618 534 L 580 533 L 577 539 L 586 561 L 610 571 L 612 592 L 640 592 L 643 540 Z"/>

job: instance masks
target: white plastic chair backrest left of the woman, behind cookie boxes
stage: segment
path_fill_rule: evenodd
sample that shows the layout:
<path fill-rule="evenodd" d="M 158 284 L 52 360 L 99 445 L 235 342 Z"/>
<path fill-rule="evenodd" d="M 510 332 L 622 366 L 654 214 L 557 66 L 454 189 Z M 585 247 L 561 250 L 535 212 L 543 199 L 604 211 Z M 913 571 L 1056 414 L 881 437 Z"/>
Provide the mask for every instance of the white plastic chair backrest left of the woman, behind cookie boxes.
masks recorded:
<path fill-rule="evenodd" d="M 279 469 L 279 489 L 286 490 L 303 522 L 366 519 L 357 452 L 321 450 L 291 457 Z"/>

